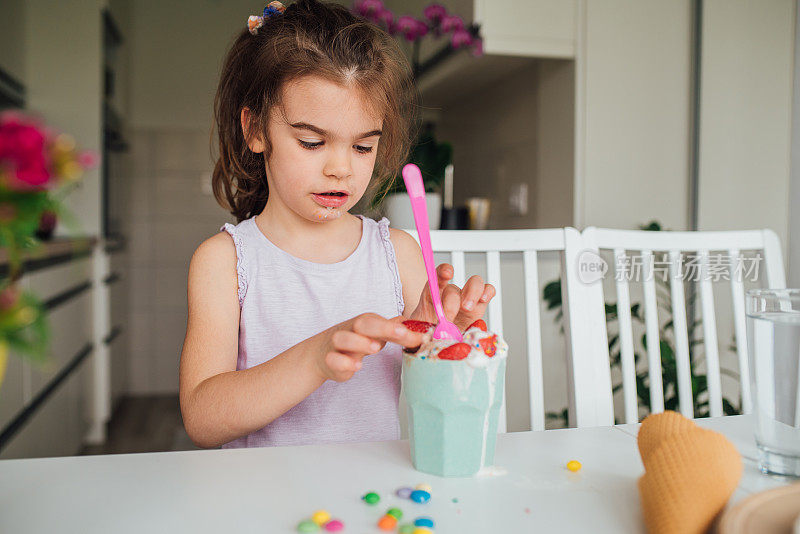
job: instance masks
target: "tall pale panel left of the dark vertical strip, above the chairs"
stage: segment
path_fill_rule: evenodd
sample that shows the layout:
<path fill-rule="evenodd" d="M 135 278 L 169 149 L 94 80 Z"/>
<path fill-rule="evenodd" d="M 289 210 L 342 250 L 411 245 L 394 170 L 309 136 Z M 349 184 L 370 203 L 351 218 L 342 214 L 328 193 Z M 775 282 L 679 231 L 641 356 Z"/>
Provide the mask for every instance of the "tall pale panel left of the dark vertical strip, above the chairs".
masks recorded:
<path fill-rule="evenodd" d="M 585 3 L 575 225 L 688 221 L 690 0 Z M 578 82 L 579 83 L 579 82 Z M 580 85 L 578 85 L 579 91 Z M 580 114 L 581 111 L 579 110 Z"/>

